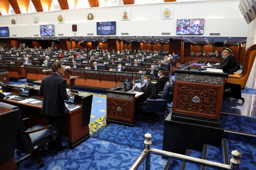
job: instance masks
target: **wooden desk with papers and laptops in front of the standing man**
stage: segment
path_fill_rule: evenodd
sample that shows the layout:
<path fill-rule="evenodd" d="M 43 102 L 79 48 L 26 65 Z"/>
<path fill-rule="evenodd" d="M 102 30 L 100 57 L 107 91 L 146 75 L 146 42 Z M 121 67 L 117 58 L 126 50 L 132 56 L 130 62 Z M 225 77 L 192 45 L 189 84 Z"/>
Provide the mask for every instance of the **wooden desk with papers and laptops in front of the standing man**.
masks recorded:
<path fill-rule="evenodd" d="M 19 88 L 28 88 L 23 85 L 3 85 L 3 92 L 12 92 L 12 94 L 7 95 L 12 96 L 19 93 Z M 31 126 L 36 124 L 47 125 L 46 115 L 41 115 L 41 109 L 43 104 L 43 98 L 38 96 L 39 88 L 28 88 L 31 96 L 36 100 L 42 101 L 40 103 L 32 104 L 21 103 L 18 100 L 12 99 L 1 99 L 3 102 L 10 103 L 12 105 L 20 107 L 22 111 L 22 117 L 30 117 Z M 65 115 L 64 125 L 63 125 L 63 134 L 68 136 L 69 144 L 68 147 L 73 149 L 84 140 L 90 137 L 89 133 L 89 123 L 91 117 L 91 106 L 92 106 L 92 95 L 79 94 L 75 96 L 75 104 L 81 106 L 80 108 L 73 110 Z"/>

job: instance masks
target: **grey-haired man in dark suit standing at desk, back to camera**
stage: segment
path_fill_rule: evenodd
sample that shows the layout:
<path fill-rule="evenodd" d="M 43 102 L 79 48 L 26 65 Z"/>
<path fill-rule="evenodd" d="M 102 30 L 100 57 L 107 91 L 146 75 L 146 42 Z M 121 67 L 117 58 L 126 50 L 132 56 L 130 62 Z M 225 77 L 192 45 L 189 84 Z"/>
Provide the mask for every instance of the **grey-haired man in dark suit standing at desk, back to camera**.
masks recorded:
<path fill-rule="evenodd" d="M 63 151 L 67 148 L 62 146 L 61 142 L 63 121 L 64 115 L 69 112 L 64 100 L 68 100 L 71 94 L 66 91 L 67 81 L 60 77 L 65 72 L 61 62 L 52 64 L 52 72 L 42 79 L 40 86 L 39 96 L 44 97 L 41 114 L 47 115 L 48 124 L 53 125 L 54 130 L 58 132 L 56 140 L 48 143 L 48 149 Z"/>

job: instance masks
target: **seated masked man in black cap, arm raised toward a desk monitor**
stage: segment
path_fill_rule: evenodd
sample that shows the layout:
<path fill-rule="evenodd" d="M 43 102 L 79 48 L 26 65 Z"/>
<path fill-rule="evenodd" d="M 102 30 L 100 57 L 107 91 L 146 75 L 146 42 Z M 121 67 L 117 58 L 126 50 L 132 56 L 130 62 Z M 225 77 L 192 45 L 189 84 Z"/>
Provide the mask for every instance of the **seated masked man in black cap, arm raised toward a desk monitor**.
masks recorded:
<path fill-rule="evenodd" d="M 156 85 L 151 82 L 151 79 L 152 75 L 146 73 L 144 75 L 144 80 L 141 80 L 144 81 L 145 85 L 141 88 L 136 86 L 135 83 L 132 82 L 135 90 L 144 93 L 143 100 L 138 104 L 138 113 L 142 112 L 143 107 L 145 107 L 145 105 L 147 104 L 148 98 L 156 99 Z"/>

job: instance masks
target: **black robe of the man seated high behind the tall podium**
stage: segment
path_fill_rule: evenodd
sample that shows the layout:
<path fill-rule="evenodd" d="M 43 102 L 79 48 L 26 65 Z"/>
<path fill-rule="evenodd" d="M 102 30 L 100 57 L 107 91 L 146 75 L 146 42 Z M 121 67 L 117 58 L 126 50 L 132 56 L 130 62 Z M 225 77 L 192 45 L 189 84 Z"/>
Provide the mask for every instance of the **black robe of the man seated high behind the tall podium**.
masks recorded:
<path fill-rule="evenodd" d="M 235 64 L 233 56 L 229 55 L 220 63 L 220 65 L 215 65 L 215 68 L 222 69 L 224 73 L 234 74 Z"/>

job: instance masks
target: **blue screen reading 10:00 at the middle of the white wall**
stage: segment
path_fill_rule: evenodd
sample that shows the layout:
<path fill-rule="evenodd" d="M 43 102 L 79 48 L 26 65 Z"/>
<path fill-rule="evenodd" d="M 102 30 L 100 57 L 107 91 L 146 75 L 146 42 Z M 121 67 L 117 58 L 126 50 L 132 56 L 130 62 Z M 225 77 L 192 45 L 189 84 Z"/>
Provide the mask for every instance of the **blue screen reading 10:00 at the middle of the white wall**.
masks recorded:
<path fill-rule="evenodd" d="M 116 21 L 97 22 L 97 35 L 116 35 Z"/>

